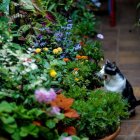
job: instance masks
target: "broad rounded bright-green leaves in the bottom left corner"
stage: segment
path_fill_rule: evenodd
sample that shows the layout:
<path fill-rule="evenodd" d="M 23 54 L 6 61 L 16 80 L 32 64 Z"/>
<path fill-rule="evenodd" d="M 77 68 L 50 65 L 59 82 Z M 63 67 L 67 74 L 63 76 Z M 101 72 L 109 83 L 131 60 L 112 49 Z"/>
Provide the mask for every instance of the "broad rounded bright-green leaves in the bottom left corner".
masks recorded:
<path fill-rule="evenodd" d="M 62 117 L 56 118 L 55 116 L 49 117 L 45 111 L 38 107 L 29 110 L 22 105 L 6 101 L 0 103 L 0 114 L 0 132 L 2 132 L 0 135 L 5 134 L 3 136 L 7 137 L 10 134 L 14 140 L 28 137 L 31 139 L 38 137 L 49 140 L 55 139 L 58 137 L 55 126 L 59 120 L 64 119 Z M 43 136 L 43 133 L 46 133 L 45 136 Z"/>

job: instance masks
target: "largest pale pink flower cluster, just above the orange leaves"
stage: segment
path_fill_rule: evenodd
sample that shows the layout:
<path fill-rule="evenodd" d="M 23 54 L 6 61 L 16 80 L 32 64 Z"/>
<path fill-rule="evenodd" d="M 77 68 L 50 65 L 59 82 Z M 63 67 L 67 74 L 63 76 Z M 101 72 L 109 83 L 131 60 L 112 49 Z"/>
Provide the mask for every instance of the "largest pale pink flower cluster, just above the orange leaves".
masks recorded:
<path fill-rule="evenodd" d="M 56 93 L 53 89 L 47 91 L 46 89 L 38 89 L 35 91 L 35 98 L 39 103 L 47 103 L 56 98 Z"/>

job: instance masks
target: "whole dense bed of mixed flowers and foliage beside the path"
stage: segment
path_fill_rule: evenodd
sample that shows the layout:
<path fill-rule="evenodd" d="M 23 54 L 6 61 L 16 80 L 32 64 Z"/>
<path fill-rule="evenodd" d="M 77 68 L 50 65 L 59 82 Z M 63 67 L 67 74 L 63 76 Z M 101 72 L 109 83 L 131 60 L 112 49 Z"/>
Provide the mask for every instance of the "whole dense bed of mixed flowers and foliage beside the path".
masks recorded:
<path fill-rule="evenodd" d="M 87 3 L 67 1 L 63 8 L 63 1 L 20 0 L 0 5 L 1 136 L 97 138 L 115 131 L 120 117 L 127 116 L 119 95 L 96 93 L 102 85 L 96 72 L 103 60 L 98 37 L 103 36 L 97 36 L 96 18 L 84 8 Z M 107 119 L 113 109 L 115 116 Z"/>

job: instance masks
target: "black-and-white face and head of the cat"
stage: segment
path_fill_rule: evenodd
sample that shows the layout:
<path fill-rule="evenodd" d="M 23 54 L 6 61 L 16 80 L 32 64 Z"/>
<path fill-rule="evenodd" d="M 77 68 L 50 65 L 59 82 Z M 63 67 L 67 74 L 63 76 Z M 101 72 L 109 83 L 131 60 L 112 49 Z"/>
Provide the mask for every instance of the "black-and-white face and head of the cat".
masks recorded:
<path fill-rule="evenodd" d="M 97 75 L 101 78 L 104 76 L 113 76 L 117 73 L 117 67 L 115 62 L 106 61 L 106 63 L 102 66 L 101 70 L 97 73 Z"/>

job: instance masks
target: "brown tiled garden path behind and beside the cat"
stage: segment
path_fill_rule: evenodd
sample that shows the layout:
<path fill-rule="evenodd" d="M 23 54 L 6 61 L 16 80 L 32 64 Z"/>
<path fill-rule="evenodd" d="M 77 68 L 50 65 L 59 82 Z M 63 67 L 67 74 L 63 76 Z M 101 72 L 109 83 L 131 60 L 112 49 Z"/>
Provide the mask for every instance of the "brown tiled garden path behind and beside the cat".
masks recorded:
<path fill-rule="evenodd" d="M 116 61 L 132 84 L 137 99 L 140 99 L 140 28 L 133 28 L 137 16 L 136 0 L 116 0 L 116 3 L 115 27 L 110 27 L 107 16 L 101 17 L 104 55 Z M 136 108 L 135 117 L 122 121 L 116 140 L 140 140 L 140 106 Z"/>

